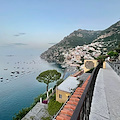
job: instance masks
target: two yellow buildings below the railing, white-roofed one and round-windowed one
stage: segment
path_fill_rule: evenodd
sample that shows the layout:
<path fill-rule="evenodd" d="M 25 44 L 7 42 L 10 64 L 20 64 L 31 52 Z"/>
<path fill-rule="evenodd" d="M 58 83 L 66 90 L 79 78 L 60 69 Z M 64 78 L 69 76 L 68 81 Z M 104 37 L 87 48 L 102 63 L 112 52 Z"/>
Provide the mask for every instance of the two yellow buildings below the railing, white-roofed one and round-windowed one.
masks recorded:
<path fill-rule="evenodd" d="M 85 82 L 91 73 L 87 71 L 98 65 L 97 60 L 85 60 L 83 70 L 75 72 L 67 77 L 56 89 L 56 101 L 64 103 L 71 93 L 80 86 L 81 82 Z"/>

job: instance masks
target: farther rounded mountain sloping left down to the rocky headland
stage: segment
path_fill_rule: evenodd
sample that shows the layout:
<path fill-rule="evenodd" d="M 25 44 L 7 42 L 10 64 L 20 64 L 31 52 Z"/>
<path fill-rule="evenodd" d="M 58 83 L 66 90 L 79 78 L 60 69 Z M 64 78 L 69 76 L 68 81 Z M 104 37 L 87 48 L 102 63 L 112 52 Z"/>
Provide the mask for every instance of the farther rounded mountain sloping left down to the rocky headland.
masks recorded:
<path fill-rule="evenodd" d="M 42 53 L 41 58 L 47 60 L 48 62 L 57 62 L 61 64 L 64 61 L 63 52 L 78 45 L 91 43 L 100 35 L 100 33 L 101 31 L 76 30 L 61 40 L 58 44 Z"/>

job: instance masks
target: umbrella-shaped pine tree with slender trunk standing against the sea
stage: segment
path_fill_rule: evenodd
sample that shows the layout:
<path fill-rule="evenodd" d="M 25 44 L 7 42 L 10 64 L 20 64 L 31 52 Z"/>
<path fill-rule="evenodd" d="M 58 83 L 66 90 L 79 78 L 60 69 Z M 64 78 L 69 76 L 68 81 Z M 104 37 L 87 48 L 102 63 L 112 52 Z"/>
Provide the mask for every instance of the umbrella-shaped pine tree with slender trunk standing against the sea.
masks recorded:
<path fill-rule="evenodd" d="M 46 90 L 47 90 L 47 97 L 48 97 L 49 83 L 57 81 L 58 79 L 60 79 L 60 77 L 61 77 L 61 73 L 57 72 L 57 70 L 47 70 L 40 73 L 36 79 L 39 82 L 43 82 L 47 85 Z"/>

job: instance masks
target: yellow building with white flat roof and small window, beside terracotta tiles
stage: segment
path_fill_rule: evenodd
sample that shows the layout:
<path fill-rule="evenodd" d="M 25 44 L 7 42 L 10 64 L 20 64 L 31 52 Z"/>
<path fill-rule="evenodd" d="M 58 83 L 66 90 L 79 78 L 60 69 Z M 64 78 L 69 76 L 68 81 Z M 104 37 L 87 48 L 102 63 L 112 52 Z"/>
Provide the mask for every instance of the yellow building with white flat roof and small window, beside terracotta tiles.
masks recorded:
<path fill-rule="evenodd" d="M 89 75 L 90 73 L 84 73 L 80 76 L 73 74 L 66 78 L 56 89 L 56 101 L 65 103 L 74 90 L 80 86 L 81 81 L 84 82 Z"/>

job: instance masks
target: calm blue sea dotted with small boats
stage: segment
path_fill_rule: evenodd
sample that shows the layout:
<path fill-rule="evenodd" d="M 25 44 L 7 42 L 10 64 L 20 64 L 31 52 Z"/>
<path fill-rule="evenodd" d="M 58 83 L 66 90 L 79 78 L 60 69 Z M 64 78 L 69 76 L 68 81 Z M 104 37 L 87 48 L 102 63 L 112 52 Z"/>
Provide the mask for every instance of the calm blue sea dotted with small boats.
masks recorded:
<path fill-rule="evenodd" d="M 63 74 L 56 64 L 42 60 L 41 52 L 0 48 L 0 120 L 12 120 L 15 113 L 46 91 L 46 85 L 36 80 L 40 72 L 56 69 Z"/>

